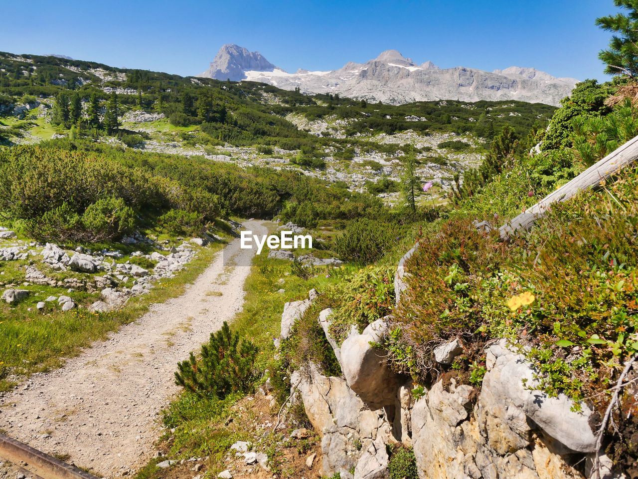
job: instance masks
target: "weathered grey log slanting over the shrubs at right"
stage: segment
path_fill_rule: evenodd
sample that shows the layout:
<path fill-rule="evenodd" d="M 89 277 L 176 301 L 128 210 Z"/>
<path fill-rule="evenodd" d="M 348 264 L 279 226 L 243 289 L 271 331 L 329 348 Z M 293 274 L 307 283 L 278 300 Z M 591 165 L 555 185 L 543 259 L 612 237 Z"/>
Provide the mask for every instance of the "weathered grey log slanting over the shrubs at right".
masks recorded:
<path fill-rule="evenodd" d="M 632 165 L 637 158 L 638 136 L 632 138 L 620 148 L 615 149 L 609 153 L 609 155 L 605 156 L 605 158 L 591 165 L 576 178 L 572 179 L 569 183 L 545 196 L 537 202 L 537 204 L 526 209 L 516 218 L 513 218 L 510 222 L 501 226 L 498 229 L 501 238 L 506 239 L 517 231 L 530 229 L 538 218 L 545 215 L 545 212 L 553 203 L 567 201 L 582 190 L 600 185 L 601 181 Z"/>

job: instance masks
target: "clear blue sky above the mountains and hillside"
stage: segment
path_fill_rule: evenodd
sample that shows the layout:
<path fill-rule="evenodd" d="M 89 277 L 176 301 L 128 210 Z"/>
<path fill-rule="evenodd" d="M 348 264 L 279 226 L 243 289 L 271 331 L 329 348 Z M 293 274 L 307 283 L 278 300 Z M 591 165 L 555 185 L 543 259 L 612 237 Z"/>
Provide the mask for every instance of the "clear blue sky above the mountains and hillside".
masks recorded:
<path fill-rule="evenodd" d="M 0 50 L 195 75 L 224 43 L 289 72 L 363 63 L 387 49 L 441 68 L 533 66 L 605 79 L 594 20 L 612 0 L 4 1 Z"/>

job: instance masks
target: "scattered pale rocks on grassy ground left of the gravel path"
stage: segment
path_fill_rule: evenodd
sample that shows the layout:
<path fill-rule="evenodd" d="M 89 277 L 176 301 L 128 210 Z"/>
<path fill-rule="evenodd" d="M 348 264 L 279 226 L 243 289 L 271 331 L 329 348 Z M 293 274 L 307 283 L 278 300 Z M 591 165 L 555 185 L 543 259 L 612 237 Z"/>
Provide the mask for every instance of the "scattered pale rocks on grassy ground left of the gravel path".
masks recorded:
<path fill-rule="evenodd" d="M 92 251 L 81 246 L 71 250 L 54 243 L 24 241 L 17 239 L 15 232 L 0 227 L 0 261 L 15 263 L 14 268 L 20 270 L 24 268 L 22 284 L 15 282 L 13 275 L 4 282 L 5 271 L 0 272 L 0 287 L 5 288 L 2 299 L 13 303 L 27 296 L 42 295 L 36 305 L 38 310 L 46 310 L 57 303 L 66 311 L 76 307 L 73 292 L 80 289 L 98 295 L 96 301 L 86 305 L 89 311 L 105 312 L 121 307 L 132 296 L 147 293 L 157 280 L 174 277 L 193 259 L 195 248 L 216 239 L 219 238 L 193 238 L 175 247 L 138 235 L 124 238 L 122 243 L 144 246 L 146 251 L 151 247 L 153 251 L 150 254 L 133 251 L 130 255 L 124 255 L 120 250 Z M 154 265 L 153 268 L 138 266 L 135 264 L 136 258 L 145 259 L 148 264 Z M 43 291 L 24 289 L 33 285 L 65 288 L 70 296 L 43 296 Z"/>

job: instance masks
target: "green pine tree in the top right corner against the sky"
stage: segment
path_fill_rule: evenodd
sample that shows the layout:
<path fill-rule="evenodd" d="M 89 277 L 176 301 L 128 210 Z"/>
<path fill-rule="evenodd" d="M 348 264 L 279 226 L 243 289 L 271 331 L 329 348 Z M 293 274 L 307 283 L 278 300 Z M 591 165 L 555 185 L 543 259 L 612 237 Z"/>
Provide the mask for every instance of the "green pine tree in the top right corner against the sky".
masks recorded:
<path fill-rule="evenodd" d="M 605 73 L 635 78 L 638 75 L 638 0 L 614 0 L 627 15 L 617 13 L 596 19 L 596 25 L 614 33 L 609 49 L 601 50 L 598 58 L 607 65 Z"/>

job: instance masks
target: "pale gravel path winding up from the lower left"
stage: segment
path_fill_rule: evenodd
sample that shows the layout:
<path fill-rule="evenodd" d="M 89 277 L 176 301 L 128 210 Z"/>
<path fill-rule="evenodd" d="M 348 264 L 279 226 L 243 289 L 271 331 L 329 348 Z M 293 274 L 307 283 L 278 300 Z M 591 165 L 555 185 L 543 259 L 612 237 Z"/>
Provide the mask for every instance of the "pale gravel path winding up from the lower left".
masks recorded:
<path fill-rule="evenodd" d="M 267 234 L 257 221 L 244 222 Z M 244 301 L 254 250 L 234 239 L 178 298 L 94 344 L 66 366 L 29 381 L 0 399 L 0 428 L 9 436 L 108 477 L 142 466 L 161 434 L 159 412 L 178 391 L 177 361 L 230 321 Z M 223 257 L 232 259 L 223 264 Z M 221 296 L 210 295 L 218 291 Z"/>

